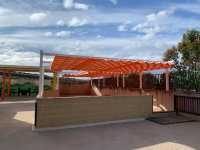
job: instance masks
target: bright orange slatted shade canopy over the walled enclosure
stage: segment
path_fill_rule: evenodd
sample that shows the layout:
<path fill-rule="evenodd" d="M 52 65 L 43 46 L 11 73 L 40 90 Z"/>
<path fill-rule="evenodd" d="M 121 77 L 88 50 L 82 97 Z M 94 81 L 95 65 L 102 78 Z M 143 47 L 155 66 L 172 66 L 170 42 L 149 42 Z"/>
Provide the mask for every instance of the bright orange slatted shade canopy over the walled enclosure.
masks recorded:
<path fill-rule="evenodd" d="M 74 55 L 56 55 L 51 65 L 52 71 L 79 70 L 80 73 L 65 74 L 65 77 L 101 77 L 128 74 L 150 70 L 173 68 L 173 62 L 145 61 L 133 59 L 115 59 L 85 57 Z"/>

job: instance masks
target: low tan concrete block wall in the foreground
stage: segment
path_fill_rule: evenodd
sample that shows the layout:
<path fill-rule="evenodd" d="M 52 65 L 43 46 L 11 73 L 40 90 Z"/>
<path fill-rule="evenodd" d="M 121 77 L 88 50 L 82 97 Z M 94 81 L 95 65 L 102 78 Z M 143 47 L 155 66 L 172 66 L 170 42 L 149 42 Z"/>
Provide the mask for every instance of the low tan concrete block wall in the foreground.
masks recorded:
<path fill-rule="evenodd" d="M 152 96 L 37 98 L 36 128 L 146 118 Z"/>

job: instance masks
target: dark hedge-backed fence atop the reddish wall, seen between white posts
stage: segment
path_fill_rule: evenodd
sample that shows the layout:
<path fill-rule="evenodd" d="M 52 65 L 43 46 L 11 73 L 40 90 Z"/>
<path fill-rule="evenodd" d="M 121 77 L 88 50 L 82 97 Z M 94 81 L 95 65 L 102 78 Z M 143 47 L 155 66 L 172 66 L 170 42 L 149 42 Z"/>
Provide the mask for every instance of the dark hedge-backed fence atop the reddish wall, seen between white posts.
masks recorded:
<path fill-rule="evenodd" d="M 119 87 L 122 87 L 122 76 L 119 76 Z M 98 79 L 93 79 L 93 84 L 98 85 Z M 103 79 L 100 79 L 100 86 L 103 86 Z M 117 86 L 117 77 L 105 78 L 105 86 Z M 139 88 L 139 74 L 125 76 L 125 87 Z M 163 74 L 145 73 L 142 76 L 142 87 L 145 89 L 166 88 L 166 77 Z M 173 72 L 169 73 L 169 89 L 200 91 L 200 72 Z"/>

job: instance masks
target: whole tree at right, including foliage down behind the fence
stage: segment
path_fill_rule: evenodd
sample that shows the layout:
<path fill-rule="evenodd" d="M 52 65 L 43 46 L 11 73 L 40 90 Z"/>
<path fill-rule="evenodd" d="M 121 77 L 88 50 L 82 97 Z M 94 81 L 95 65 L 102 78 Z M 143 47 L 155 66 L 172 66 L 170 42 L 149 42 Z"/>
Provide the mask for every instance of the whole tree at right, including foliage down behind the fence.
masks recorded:
<path fill-rule="evenodd" d="M 187 90 L 200 90 L 198 80 L 200 71 L 200 31 L 192 29 L 183 33 L 181 42 L 177 46 L 168 49 L 163 55 L 163 60 L 174 61 L 174 68 L 177 70 L 176 79 L 180 79 L 177 85 L 184 86 L 184 89 Z"/>

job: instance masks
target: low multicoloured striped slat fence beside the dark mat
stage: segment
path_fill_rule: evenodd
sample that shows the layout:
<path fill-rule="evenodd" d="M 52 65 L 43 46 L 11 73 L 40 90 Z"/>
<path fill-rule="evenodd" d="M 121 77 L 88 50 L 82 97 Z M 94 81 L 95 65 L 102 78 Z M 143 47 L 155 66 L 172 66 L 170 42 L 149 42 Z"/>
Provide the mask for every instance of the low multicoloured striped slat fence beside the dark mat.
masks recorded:
<path fill-rule="evenodd" d="M 200 98 L 174 96 L 174 110 L 200 115 Z"/>

